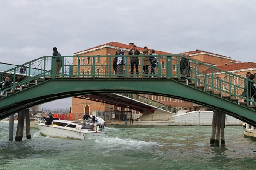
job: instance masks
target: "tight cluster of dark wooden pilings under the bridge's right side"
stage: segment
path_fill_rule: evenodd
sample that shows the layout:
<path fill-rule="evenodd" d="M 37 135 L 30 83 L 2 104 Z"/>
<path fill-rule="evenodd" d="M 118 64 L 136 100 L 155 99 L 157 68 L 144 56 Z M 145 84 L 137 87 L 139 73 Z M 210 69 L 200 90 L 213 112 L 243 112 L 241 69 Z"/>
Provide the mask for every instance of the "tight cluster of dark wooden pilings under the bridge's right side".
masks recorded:
<path fill-rule="evenodd" d="M 214 144 L 215 146 L 220 146 L 221 144 L 225 144 L 225 121 L 226 114 L 220 111 L 213 112 L 212 118 L 212 135 L 210 144 Z M 221 140 L 220 140 L 221 137 Z"/>

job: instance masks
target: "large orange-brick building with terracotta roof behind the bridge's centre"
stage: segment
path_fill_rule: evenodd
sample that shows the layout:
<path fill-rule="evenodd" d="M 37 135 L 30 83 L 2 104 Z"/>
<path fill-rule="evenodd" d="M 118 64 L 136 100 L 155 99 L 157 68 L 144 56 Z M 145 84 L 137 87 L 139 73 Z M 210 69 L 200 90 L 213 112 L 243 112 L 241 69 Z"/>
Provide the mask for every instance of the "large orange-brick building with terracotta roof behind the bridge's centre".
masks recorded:
<path fill-rule="evenodd" d="M 86 74 L 90 74 L 91 73 L 91 69 L 87 66 L 87 64 L 91 64 L 92 62 L 95 63 L 107 63 L 108 61 L 107 59 L 102 59 L 102 58 L 96 58 L 96 61 L 92 61 L 92 57 L 90 56 L 106 56 L 106 55 L 114 55 L 116 52 L 117 48 L 122 48 L 125 51 L 125 55 L 128 55 L 128 51 L 130 51 L 130 49 L 132 48 L 134 44 L 133 43 L 129 43 L 129 44 L 122 44 L 122 43 L 118 43 L 118 42 L 109 42 L 103 45 L 99 45 L 93 48 L 89 48 L 87 50 L 83 50 L 83 51 L 79 51 L 73 54 L 74 59 L 73 59 L 73 63 L 76 65 L 78 60 L 76 56 L 80 56 L 79 58 L 81 58 L 79 60 L 79 62 L 81 64 L 84 64 L 84 67 L 81 67 L 79 69 L 80 74 L 84 74 L 84 76 L 86 76 Z M 137 49 L 143 53 L 143 47 L 137 47 Z M 164 55 L 164 54 L 172 54 L 172 53 L 168 53 L 168 52 L 163 52 L 163 51 L 156 51 L 156 54 L 160 54 L 160 55 Z M 195 51 L 189 51 L 187 52 L 189 53 L 189 57 L 191 57 L 192 59 L 196 59 L 200 62 L 212 65 L 212 66 L 230 66 L 230 65 L 236 65 L 239 63 L 243 63 L 243 62 L 239 62 L 239 61 L 234 61 L 232 60 L 230 57 L 227 56 L 223 56 L 223 55 L 219 55 L 219 54 L 214 54 L 211 52 L 207 52 L 207 51 L 201 51 L 201 50 L 195 50 Z M 113 61 L 113 58 L 111 58 L 111 61 Z M 177 60 L 173 60 L 172 63 L 174 63 L 173 68 L 172 68 L 172 72 L 177 71 L 177 65 L 175 65 L 175 63 L 177 64 Z M 140 61 L 141 64 L 141 61 Z M 165 65 L 166 64 L 166 57 L 161 57 L 160 61 L 158 61 L 158 64 L 162 64 L 160 66 L 160 68 L 156 68 L 157 69 L 161 69 L 162 73 L 166 73 L 166 69 L 165 69 Z M 101 72 L 111 72 L 110 70 L 111 68 L 109 67 L 105 67 L 105 68 L 97 68 L 96 67 L 96 74 L 101 74 Z M 195 69 L 195 68 L 194 68 Z M 196 69 L 200 69 L 199 67 Z M 141 67 L 139 67 L 139 70 L 142 71 L 143 69 Z M 74 71 L 78 71 L 74 69 Z M 152 105 L 155 105 L 157 107 L 166 109 L 168 108 L 168 106 L 174 107 L 176 109 L 186 109 L 186 110 L 194 110 L 193 107 L 193 103 L 190 102 L 186 102 L 186 101 L 182 101 L 179 99 L 172 99 L 172 98 L 168 98 L 168 97 L 163 97 L 163 96 L 153 96 L 153 95 L 145 95 L 145 94 L 132 94 L 133 99 L 137 99 L 140 100 L 142 102 L 152 102 Z M 154 102 L 155 101 L 155 102 Z M 160 104 L 162 103 L 162 104 Z M 78 99 L 78 98 L 72 98 L 72 112 L 73 113 L 84 113 L 84 112 L 88 112 L 88 113 L 92 113 L 92 111 L 107 111 L 107 110 L 127 110 L 130 111 L 130 109 L 126 109 L 126 108 L 115 108 L 113 105 L 108 105 L 108 104 L 104 104 L 104 103 L 99 103 L 99 102 L 93 102 L 93 101 L 89 101 L 89 100 L 84 100 L 84 99 Z M 132 111 L 134 114 L 140 114 L 137 111 Z"/>

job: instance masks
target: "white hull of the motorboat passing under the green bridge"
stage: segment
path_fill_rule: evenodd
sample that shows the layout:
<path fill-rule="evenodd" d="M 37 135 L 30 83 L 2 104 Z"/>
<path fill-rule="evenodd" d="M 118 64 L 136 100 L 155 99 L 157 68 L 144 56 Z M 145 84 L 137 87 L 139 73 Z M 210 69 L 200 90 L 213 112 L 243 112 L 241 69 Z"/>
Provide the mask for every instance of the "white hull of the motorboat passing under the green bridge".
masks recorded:
<path fill-rule="evenodd" d="M 79 132 L 76 130 L 67 130 L 59 127 L 54 127 L 52 125 L 40 125 L 36 124 L 40 132 L 49 137 L 55 138 L 67 138 L 67 139 L 79 139 L 86 140 L 89 138 L 105 138 L 107 133 L 96 132 L 95 130 L 91 132 Z"/>

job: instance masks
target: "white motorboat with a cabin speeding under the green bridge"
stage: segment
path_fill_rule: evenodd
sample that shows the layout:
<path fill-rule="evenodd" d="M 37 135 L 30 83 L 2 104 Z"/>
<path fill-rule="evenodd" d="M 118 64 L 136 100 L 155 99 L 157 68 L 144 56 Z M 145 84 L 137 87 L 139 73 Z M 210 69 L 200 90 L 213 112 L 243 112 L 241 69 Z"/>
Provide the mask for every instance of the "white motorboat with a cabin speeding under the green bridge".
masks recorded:
<path fill-rule="evenodd" d="M 53 120 L 51 125 L 46 125 L 45 123 L 36 125 L 42 134 L 50 137 L 84 140 L 95 137 L 105 138 L 107 135 L 105 132 L 98 131 L 99 126 L 86 122 Z"/>

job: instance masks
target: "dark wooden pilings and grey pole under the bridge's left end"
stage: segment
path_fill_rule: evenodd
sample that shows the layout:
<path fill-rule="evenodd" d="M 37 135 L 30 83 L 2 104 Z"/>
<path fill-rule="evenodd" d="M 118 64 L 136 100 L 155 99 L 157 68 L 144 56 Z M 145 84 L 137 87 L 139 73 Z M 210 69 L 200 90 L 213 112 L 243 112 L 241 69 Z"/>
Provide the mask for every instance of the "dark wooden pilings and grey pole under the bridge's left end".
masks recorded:
<path fill-rule="evenodd" d="M 25 118 L 26 118 L 26 138 L 31 139 L 29 109 L 25 109 L 18 113 L 18 125 L 17 125 L 15 141 L 22 141 Z M 10 116 L 10 119 L 9 119 L 9 141 L 13 141 L 13 115 Z"/>

